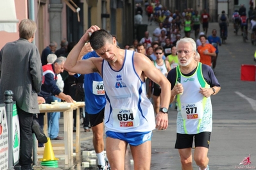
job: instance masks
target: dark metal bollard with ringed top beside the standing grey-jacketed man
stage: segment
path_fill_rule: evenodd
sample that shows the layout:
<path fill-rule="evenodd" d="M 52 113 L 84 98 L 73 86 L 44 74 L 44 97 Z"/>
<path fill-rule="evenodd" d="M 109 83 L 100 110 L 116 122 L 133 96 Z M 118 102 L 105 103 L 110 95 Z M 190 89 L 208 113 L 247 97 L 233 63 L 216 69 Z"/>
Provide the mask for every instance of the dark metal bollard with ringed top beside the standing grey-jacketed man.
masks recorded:
<path fill-rule="evenodd" d="M 12 135 L 12 95 L 13 92 L 11 90 L 4 91 L 4 103 L 6 108 L 6 116 L 7 116 L 7 125 L 8 125 L 8 148 L 9 148 L 9 154 L 8 154 L 8 169 L 14 169 L 13 168 L 13 135 Z"/>

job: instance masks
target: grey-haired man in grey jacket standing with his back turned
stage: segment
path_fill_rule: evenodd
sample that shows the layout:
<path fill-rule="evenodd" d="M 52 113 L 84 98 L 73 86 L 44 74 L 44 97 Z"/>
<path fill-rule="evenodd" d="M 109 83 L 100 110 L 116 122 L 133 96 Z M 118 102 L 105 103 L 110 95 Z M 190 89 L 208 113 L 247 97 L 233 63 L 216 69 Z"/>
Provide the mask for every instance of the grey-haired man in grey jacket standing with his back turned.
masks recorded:
<path fill-rule="evenodd" d="M 19 40 L 6 43 L 0 52 L 0 103 L 4 91 L 13 91 L 21 129 L 19 164 L 22 170 L 32 169 L 33 115 L 39 112 L 37 93 L 42 85 L 40 54 L 33 40 L 37 24 L 30 19 L 21 20 Z"/>

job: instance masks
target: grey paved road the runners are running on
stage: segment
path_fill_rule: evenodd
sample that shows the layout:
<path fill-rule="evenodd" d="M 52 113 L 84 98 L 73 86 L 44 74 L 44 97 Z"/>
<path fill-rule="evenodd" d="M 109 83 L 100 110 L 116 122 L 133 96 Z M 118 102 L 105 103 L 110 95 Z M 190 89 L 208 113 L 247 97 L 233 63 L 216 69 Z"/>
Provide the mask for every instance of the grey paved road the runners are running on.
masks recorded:
<path fill-rule="evenodd" d="M 148 26 L 150 33 L 157 25 Z M 217 23 L 210 23 L 209 33 Z M 256 46 L 243 42 L 241 33 L 235 36 L 232 26 L 228 27 L 228 40 L 219 47 L 216 77 L 221 91 L 212 97 L 213 130 L 209 148 L 210 169 L 235 169 L 244 157 L 251 155 L 251 169 L 256 169 L 256 83 L 241 81 L 241 65 L 255 65 L 253 54 Z M 209 35 L 208 33 L 208 35 Z M 183 33 L 182 33 L 183 35 Z M 192 35 L 192 34 L 191 34 Z M 61 132 L 63 133 L 63 132 Z M 62 135 L 62 134 L 60 134 Z M 82 150 L 93 150 L 92 132 L 81 132 Z M 155 130 L 152 137 L 151 169 L 180 170 L 178 150 L 174 149 L 176 140 L 176 111 L 169 109 L 169 127 L 167 130 Z M 129 151 L 129 150 L 128 150 Z M 132 170 L 130 151 L 126 157 L 126 170 Z M 82 158 L 85 161 L 85 158 Z M 80 160 L 71 169 L 89 169 L 80 167 Z M 69 169 L 59 162 L 59 167 Z M 198 169 L 193 163 L 194 169 Z M 240 169 L 245 169 L 240 166 Z M 90 169 L 95 169 L 91 167 Z"/>

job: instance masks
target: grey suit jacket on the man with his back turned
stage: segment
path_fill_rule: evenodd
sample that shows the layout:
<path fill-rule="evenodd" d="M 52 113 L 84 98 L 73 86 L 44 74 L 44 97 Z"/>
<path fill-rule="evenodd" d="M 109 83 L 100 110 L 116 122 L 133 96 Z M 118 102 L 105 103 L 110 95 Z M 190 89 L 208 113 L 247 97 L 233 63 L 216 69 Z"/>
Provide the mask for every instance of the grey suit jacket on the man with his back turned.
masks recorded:
<path fill-rule="evenodd" d="M 4 91 L 13 91 L 13 101 L 22 111 L 38 113 L 37 93 L 42 84 L 42 64 L 37 47 L 19 38 L 6 43 L 0 52 L 0 103 Z"/>

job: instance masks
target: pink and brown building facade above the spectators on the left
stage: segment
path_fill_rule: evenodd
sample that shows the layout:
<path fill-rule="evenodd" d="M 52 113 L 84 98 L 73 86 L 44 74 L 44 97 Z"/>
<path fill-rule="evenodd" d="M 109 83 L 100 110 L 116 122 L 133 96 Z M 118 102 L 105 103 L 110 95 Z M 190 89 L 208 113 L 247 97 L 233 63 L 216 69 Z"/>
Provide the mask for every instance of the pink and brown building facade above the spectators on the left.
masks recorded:
<path fill-rule="evenodd" d="M 5 1 L 5 0 L 0 0 Z M 8 0 L 9 1 L 9 0 Z M 133 6 L 132 0 L 10 0 L 15 3 L 17 31 L 9 33 L 0 31 L 0 49 L 7 42 L 19 38 L 18 26 L 22 19 L 31 18 L 32 8 L 37 22 L 35 45 L 40 52 L 51 41 L 58 43 L 62 39 L 78 42 L 86 29 L 97 25 L 114 35 L 119 44 L 133 40 Z M 32 3 L 31 3 L 32 1 Z M 0 2 L 1 3 L 1 2 Z M 31 6 L 32 5 L 32 6 Z M 0 6 L 0 14 L 1 8 Z M 3 14 L 4 16 L 4 14 Z M 1 20 L 0 23 L 7 21 Z"/>

